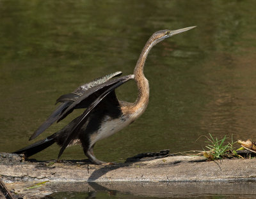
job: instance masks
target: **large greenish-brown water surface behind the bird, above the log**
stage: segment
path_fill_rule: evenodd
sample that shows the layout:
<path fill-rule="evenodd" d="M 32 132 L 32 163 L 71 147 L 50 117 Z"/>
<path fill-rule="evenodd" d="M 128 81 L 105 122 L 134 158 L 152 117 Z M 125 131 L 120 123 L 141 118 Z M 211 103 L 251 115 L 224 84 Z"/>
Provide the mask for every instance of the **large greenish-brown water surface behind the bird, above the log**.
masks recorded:
<path fill-rule="evenodd" d="M 197 27 L 152 49 L 145 66 L 145 114 L 98 142 L 97 158 L 120 162 L 161 149 L 202 150 L 205 138 L 196 140 L 208 133 L 255 140 L 255 6 L 220 0 L 0 0 L 0 151 L 28 145 L 61 94 L 114 71 L 131 74 L 155 31 L 188 26 Z M 134 101 L 136 85 L 128 82 L 116 93 Z M 55 159 L 58 151 L 54 145 L 33 158 Z M 84 154 L 71 147 L 61 158 Z"/>

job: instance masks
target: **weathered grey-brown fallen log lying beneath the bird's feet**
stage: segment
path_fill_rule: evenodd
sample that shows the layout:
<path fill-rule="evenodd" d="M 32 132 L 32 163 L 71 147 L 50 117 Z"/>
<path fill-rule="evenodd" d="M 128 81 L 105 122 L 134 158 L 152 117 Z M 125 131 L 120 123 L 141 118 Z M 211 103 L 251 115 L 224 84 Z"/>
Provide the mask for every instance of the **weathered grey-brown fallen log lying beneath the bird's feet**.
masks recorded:
<path fill-rule="evenodd" d="M 166 156 L 144 160 L 99 166 L 84 160 L 24 161 L 22 156 L 16 154 L 0 154 L 0 175 L 6 186 L 16 193 L 24 193 L 25 186 L 38 182 L 47 182 L 45 183 L 47 185 L 55 182 L 173 183 L 256 180 L 255 158 L 205 161 L 202 156 Z M 22 189 L 19 189 L 20 186 Z M 49 186 L 45 186 L 47 190 L 43 189 L 44 185 L 39 185 L 39 187 L 40 194 L 44 191 L 45 194 L 51 193 Z M 29 191 L 33 189 L 27 189 L 25 192 L 29 193 Z M 38 194 L 38 191 L 35 193 Z"/>

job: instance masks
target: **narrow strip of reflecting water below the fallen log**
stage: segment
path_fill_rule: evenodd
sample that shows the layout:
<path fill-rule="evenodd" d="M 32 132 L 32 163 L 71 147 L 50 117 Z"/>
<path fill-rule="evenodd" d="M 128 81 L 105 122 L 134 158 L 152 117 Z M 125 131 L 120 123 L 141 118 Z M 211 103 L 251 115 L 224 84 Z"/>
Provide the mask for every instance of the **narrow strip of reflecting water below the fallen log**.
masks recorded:
<path fill-rule="evenodd" d="M 254 182 L 122 182 L 52 184 L 57 198 L 256 198 Z M 76 186 L 76 188 L 75 188 Z M 75 189 L 74 189 L 75 188 Z M 60 189 L 66 191 L 60 191 Z M 243 193 L 241 193 L 243 190 Z"/>

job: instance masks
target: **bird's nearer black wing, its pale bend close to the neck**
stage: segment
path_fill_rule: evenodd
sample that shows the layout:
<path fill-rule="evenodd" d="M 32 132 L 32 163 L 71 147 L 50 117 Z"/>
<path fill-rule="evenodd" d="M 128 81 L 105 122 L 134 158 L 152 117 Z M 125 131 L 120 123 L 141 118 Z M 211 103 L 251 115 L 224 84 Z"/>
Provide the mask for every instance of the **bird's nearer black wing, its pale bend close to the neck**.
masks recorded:
<path fill-rule="evenodd" d="M 97 107 L 97 105 L 100 103 L 100 101 L 102 101 L 102 99 L 106 98 L 106 96 L 108 96 L 109 93 L 115 91 L 115 89 L 117 87 L 124 84 L 128 80 L 131 80 L 132 78 L 134 78 L 134 75 L 127 75 L 127 76 L 124 76 L 124 77 L 116 78 L 114 80 L 109 80 L 108 82 L 105 82 L 104 87 L 102 86 L 102 84 L 93 87 L 91 90 L 88 90 L 88 92 L 86 92 L 86 94 L 81 96 L 81 98 L 77 99 L 74 103 L 72 103 L 72 105 L 70 105 L 70 107 L 68 107 L 65 110 L 65 112 L 63 112 L 63 114 L 60 115 L 60 118 L 58 119 L 58 121 L 65 118 L 70 112 L 72 112 L 72 110 L 74 110 L 74 108 L 79 106 L 79 104 L 83 103 L 83 101 L 86 100 L 86 98 L 88 98 L 88 96 L 90 96 L 90 93 L 93 93 L 93 90 L 97 89 L 98 93 L 101 92 L 100 96 L 98 98 L 96 98 L 90 104 L 90 106 L 88 106 L 88 108 L 86 108 L 86 110 L 83 112 L 82 115 L 79 116 L 79 120 L 77 121 L 76 126 L 74 126 L 72 131 L 70 131 L 68 133 L 67 138 L 66 138 L 65 142 L 63 143 L 63 145 L 60 149 L 60 152 L 58 154 L 58 158 L 60 158 L 61 154 L 66 149 L 66 147 L 68 146 L 70 141 L 73 140 L 74 138 L 76 138 L 77 133 L 79 132 L 79 129 L 81 129 L 81 127 L 87 121 L 88 117 L 90 117 L 90 114 L 91 114 L 93 108 Z M 98 88 L 98 87 L 101 87 L 101 88 Z"/>

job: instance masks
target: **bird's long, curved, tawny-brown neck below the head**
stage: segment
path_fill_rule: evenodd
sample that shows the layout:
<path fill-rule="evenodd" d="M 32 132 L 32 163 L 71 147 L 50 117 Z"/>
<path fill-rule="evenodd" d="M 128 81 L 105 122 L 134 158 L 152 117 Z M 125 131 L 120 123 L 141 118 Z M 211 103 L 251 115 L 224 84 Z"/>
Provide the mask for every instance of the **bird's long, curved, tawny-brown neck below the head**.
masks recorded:
<path fill-rule="evenodd" d="M 148 98 L 149 98 L 149 85 L 148 80 L 143 73 L 145 61 L 147 59 L 148 52 L 153 47 L 151 40 L 148 40 L 145 47 L 143 48 L 140 57 L 134 68 L 134 80 L 138 85 L 138 98 L 136 99 L 134 105 L 138 110 L 141 111 L 141 114 L 147 108 Z"/>

